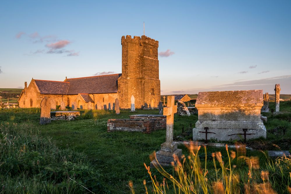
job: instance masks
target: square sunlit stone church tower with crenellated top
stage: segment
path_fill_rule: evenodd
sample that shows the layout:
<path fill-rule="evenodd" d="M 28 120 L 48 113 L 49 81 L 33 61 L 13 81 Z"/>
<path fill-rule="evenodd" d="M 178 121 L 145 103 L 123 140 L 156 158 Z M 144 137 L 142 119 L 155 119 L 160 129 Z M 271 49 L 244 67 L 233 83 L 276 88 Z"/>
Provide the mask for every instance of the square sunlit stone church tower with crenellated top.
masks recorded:
<path fill-rule="evenodd" d="M 155 108 L 161 100 L 158 41 L 145 35 L 121 37 L 122 76 L 118 79 L 118 98 L 121 108 L 128 108 L 131 96 L 135 108 Z"/>

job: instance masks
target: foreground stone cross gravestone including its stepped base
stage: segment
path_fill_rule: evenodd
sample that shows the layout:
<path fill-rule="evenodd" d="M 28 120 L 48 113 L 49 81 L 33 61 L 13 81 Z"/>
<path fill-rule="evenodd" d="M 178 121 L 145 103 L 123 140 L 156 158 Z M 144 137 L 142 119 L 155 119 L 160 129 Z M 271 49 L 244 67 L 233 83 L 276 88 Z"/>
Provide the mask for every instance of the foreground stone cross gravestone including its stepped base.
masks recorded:
<path fill-rule="evenodd" d="M 177 149 L 177 143 L 173 142 L 173 126 L 174 126 L 174 113 L 177 113 L 177 106 L 174 105 L 175 96 L 167 96 L 167 107 L 164 107 L 164 114 L 167 116 L 166 121 L 166 141 L 162 143 L 161 149 L 156 152 L 156 158 L 160 165 L 171 166 L 174 161 L 173 154 L 179 158 L 182 155 L 182 150 Z M 151 166 L 154 166 L 156 161 L 151 161 Z"/>

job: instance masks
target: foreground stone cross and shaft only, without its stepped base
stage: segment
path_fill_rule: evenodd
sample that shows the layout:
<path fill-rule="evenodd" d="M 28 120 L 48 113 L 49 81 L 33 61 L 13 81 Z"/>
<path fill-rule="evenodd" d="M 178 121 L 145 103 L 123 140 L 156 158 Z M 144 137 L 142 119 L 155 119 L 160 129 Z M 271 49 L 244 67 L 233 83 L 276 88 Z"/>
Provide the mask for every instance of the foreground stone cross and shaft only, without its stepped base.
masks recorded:
<path fill-rule="evenodd" d="M 174 113 L 177 113 L 177 105 L 174 103 L 175 96 L 167 96 L 167 106 L 164 107 L 163 115 L 167 116 L 166 143 L 173 142 Z"/>

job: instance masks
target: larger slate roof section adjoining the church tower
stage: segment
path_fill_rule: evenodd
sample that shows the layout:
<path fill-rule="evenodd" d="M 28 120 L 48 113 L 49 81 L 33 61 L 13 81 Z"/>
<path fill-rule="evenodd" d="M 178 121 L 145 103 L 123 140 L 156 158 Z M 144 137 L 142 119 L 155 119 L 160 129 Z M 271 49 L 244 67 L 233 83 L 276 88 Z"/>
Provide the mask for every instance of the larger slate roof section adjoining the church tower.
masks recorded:
<path fill-rule="evenodd" d="M 117 93 L 117 80 L 121 74 L 66 79 L 70 82 L 67 94 Z"/>

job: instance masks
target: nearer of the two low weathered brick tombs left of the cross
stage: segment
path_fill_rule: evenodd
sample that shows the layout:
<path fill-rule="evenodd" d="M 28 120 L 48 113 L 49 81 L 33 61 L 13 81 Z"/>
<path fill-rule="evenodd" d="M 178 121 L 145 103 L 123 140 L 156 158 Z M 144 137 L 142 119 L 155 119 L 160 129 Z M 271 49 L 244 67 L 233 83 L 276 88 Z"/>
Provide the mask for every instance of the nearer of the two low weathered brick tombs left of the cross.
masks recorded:
<path fill-rule="evenodd" d="M 109 119 L 107 131 L 140 131 L 151 133 L 155 128 L 154 119 Z"/>

